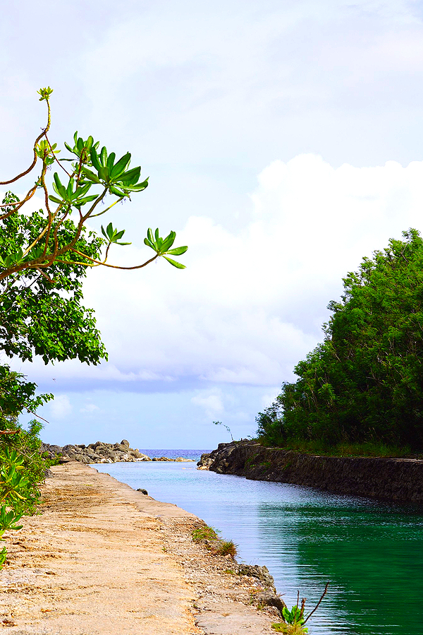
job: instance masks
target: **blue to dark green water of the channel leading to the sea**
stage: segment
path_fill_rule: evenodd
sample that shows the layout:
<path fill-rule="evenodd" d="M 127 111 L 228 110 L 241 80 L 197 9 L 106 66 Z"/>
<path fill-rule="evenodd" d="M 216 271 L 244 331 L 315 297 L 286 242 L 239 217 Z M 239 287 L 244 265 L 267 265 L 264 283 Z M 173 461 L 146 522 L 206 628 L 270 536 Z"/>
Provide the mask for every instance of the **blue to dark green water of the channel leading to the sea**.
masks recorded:
<path fill-rule="evenodd" d="M 95 467 L 219 529 L 239 545 L 238 560 L 266 564 L 288 606 L 299 589 L 313 607 L 329 581 L 307 624 L 311 635 L 423 634 L 422 508 L 219 475 L 195 463 Z"/>

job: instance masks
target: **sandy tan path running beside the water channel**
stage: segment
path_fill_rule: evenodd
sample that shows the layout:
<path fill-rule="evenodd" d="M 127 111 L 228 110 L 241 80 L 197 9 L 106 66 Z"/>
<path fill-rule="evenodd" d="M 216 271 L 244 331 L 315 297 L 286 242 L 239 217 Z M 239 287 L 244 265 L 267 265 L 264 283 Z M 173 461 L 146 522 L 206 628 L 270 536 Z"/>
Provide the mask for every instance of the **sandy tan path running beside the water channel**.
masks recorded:
<path fill-rule="evenodd" d="M 259 582 L 192 542 L 199 518 L 81 463 L 51 470 L 42 513 L 7 536 L 9 634 L 274 634 Z"/>

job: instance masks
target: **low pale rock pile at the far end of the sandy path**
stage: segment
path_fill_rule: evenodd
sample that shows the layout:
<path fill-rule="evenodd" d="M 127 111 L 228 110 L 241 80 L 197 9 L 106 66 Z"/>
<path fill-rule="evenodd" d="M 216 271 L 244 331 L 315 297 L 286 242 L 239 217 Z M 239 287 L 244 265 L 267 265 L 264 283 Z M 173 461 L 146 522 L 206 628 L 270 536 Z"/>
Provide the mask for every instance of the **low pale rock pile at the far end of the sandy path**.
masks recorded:
<path fill-rule="evenodd" d="M 42 452 L 48 452 L 51 458 L 61 456 L 64 460 L 79 461 L 80 463 L 117 463 L 118 461 L 192 461 L 190 458 L 167 458 L 161 456 L 159 458 L 150 458 L 147 454 L 143 454 L 138 449 L 133 449 L 129 445 L 129 441 L 123 439 L 121 443 L 91 443 L 88 446 L 84 444 L 56 446 L 43 443 Z"/>

